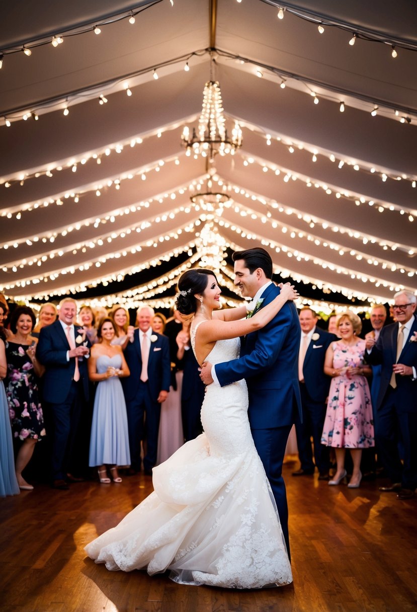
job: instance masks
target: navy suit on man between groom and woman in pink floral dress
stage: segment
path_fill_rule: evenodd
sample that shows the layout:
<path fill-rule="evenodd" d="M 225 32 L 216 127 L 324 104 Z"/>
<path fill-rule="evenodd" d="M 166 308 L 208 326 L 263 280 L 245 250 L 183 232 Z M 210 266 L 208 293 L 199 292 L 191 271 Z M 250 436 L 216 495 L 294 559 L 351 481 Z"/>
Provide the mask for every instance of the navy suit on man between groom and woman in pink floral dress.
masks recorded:
<path fill-rule="evenodd" d="M 326 399 L 330 387 L 330 376 L 324 373 L 326 351 L 330 344 L 337 340 L 337 336 L 329 334 L 316 327 L 311 339 L 303 364 L 304 383 L 300 383 L 301 405 L 303 407 L 303 420 L 297 416 L 295 431 L 297 432 L 298 457 L 301 469 L 314 472 L 312 459 L 311 436 L 314 444 L 314 460 L 320 474 L 326 474 L 330 468 L 329 448 L 320 443 L 323 425 L 326 416 Z"/>

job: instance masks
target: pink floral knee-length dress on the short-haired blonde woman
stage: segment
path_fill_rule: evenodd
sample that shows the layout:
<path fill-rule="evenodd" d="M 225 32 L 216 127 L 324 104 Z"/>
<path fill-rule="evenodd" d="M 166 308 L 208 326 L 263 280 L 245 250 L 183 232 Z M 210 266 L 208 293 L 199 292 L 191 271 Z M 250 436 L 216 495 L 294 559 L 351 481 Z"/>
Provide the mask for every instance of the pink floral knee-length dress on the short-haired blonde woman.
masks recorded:
<path fill-rule="evenodd" d="M 333 345 L 333 367 L 363 367 L 365 341 Z M 345 449 L 375 446 L 371 394 L 364 376 L 345 374 L 331 379 L 322 444 Z"/>

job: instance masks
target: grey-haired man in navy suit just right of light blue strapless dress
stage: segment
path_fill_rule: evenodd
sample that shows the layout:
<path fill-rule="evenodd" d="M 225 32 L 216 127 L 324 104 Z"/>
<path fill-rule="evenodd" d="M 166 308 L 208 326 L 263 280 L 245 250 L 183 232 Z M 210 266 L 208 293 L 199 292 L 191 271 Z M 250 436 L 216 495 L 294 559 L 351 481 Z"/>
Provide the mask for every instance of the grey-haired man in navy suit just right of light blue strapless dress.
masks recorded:
<path fill-rule="evenodd" d="M 133 342 L 129 341 L 125 348 L 130 376 L 122 379 L 129 431 L 130 473 L 141 469 L 141 441 L 146 439 L 143 465 L 148 475 L 152 474 L 157 463 L 161 403 L 168 397 L 171 382 L 169 340 L 152 332 L 150 322 L 153 314 L 149 306 L 138 308 L 136 321 L 139 329 L 135 329 Z"/>

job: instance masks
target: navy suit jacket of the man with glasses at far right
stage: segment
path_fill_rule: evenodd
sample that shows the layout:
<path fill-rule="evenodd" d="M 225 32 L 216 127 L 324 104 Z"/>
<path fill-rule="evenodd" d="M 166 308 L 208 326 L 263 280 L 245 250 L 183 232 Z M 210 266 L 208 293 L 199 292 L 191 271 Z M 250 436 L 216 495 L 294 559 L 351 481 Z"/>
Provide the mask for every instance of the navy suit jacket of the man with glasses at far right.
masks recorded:
<path fill-rule="evenodd" d="M 385 394 L 388 390 L 389 381 L 393 373 L 393 364 L 397 356 L 398 323 L 392 323 L 382 328 L 378 341 L 372 347 L 371 353 L 364 353 L 364 359 L 368 364 L 381 364 L 381 382 L 377 399 L 377 410 L 380 409 Z M 410 340 L 413 332 L 417 331 L 417 319 L 413 317 L 413 325 L 405 342 L 404 348 L 399 356 L 398 362 L 417 368 L 417 341 Z M 411 376 L 396 376 L 398 412 L 417 412 L 417 381 Z"/>

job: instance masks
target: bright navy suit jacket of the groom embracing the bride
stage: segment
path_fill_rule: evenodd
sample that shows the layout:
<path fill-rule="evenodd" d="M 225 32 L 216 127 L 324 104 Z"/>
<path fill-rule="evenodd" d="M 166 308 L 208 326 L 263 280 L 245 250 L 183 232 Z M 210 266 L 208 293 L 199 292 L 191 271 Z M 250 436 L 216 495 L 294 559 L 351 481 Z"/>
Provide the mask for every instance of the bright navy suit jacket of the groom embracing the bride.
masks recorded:
<path fill-rule="evenodd" d="M 261 308 L 280 292 L 273 283 L 262 293 Z M 249 423 L 253 429 L 269 429 L 293 423 L 293 405 L 301 417 L 298 386 L 300 320 L 293 302 L 287 302 L 270 323 L 242 339 L 240 359 L 216 364 L 222 387 L 246 379 Z"/>

